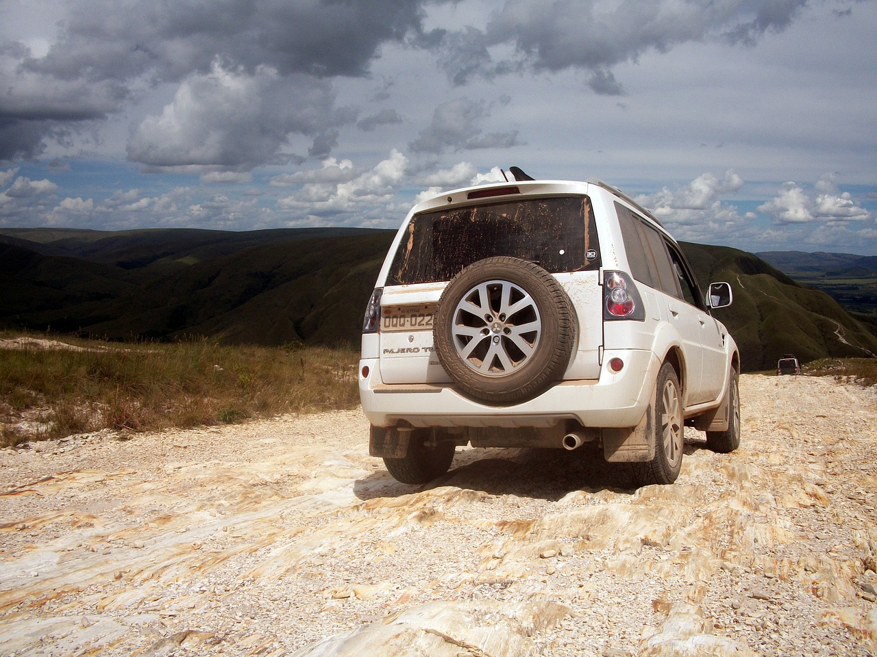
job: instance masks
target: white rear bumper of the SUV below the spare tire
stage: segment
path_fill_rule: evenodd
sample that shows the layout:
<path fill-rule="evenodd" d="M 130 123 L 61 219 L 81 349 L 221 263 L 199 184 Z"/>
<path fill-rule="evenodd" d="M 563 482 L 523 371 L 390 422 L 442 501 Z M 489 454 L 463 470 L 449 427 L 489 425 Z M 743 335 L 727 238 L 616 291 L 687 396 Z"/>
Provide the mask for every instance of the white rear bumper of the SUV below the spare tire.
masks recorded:
<path fill-rule="evenodd" d="M 360 399 L 376 427 L 405 420 L 415 427 L 552 427 L 574 420 L 583 427 L 633 427 L 652 400 L 660 361 L 646 350 L 607 350 L 624 369 L 605 365 L 595 380 L 562 381 L 535 399 L 490 406 L 468 399 L 451 384 L 396 384 L 381 380 L 378 358 L 360 360 Z M 363 372 L 367 371 L 367 375 Z"/>

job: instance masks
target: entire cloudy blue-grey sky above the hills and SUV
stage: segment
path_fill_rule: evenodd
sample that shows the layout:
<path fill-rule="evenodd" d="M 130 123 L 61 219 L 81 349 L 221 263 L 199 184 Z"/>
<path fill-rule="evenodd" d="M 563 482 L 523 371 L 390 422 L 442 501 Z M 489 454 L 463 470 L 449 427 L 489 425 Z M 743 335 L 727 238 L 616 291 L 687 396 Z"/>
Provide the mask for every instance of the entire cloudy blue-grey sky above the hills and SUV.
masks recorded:
<path fill-rule="evenodd" d="M 0 227 L 396 228 L 517 165 L 877 255 L 874 35 L 875 0 L 0 0 Z"/>

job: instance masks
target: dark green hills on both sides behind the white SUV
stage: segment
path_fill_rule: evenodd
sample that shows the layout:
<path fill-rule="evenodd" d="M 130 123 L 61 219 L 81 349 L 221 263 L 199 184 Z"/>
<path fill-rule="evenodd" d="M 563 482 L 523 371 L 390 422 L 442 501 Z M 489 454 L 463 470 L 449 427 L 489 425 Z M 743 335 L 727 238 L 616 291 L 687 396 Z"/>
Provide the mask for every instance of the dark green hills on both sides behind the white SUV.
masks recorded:
<path fill-rule="evenodd" d="M 0 229 L 0 326 L 124 341 L 358 344 L 393 234 Z M 804 362 L 877 354 L 865 322 L 765 259 L 719 246 L 683 248 L 702 286 L 731 282 L 734 304 L 717 316 L 740 345 L 746 371 L 773 369 L 785 353 Z M 873 265 L 827 255 L 832 267 Z M 766 256 L 776 262 L 782 254 Z"/>

